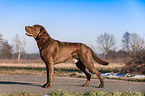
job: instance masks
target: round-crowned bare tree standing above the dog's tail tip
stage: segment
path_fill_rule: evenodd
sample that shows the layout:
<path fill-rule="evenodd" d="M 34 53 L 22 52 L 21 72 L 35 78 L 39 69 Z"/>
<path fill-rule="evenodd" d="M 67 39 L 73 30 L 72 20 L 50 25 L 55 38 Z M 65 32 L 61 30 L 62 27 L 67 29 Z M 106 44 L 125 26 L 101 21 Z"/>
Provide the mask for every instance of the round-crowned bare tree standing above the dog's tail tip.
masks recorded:
<path fill-rule="evenodd" d="M 97 37 L 98 47 L 104 52 L 106 59 L 108 59 L 108 52 L 115 45 L 115 38 L 112 34 L 104 33 Z"/>

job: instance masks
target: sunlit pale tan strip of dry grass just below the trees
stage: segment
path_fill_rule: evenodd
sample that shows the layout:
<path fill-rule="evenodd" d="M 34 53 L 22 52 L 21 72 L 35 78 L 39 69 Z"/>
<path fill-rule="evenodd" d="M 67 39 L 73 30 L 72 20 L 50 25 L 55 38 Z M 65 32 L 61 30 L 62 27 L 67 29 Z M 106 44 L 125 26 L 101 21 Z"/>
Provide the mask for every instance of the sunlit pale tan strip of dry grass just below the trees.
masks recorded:
<path fill-rule="evenodd" d="M 1 66 L 7 66 L 7 67 L 37 67 L 37 68 L 45 68 L 44 63 L 0 63 Z M 94 66 L 97 69 L 116 69 L 116 68 L 122 68 L 125 66 L 123 63 L 110 63 L 108 66 L 100 65 L 97 63 L 94 63 Z M 54 65 L 57 69 L 77 69 L 76 65 L 74 63 L 60 63 Z"/>

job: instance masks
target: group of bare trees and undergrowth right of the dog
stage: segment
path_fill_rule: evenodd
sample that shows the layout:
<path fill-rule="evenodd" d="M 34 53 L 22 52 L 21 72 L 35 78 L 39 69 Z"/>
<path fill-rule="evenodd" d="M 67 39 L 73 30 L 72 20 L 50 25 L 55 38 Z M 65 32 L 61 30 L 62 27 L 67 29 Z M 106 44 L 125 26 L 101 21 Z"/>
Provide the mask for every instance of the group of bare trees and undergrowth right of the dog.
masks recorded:
<path fill-rule="evenodd" d="M 116 39 L 112 34 L 101 34 L 96 41 L 106 59 L 136 56 L 138 50 L 145 48 L 144 37 L 141 38 L 137 33 L 125 32 L 121 40 L 122 48 L 117 52 L 115 49 Z"/>

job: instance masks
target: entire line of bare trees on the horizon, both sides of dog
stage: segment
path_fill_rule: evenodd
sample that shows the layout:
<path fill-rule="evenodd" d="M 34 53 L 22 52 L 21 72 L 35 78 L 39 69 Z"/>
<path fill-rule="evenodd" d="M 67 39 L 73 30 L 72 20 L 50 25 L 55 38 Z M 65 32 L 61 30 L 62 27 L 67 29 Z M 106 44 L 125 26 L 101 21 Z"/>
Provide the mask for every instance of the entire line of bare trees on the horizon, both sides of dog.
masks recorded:
<path fill-rule="evenodd" d="M 144 37 L 141 38 L 137 33 L 125 32 L 122 36 L 122 48 L 116 51 L 116 39 L 113 34 L 103 33 L 97 36 L 97 46 L 102 52 L 99 54 L 106 59 L 125 58 L 136 55 L 136 51 L 145 48 Z M 39 54 L 28 54 L 25 52 L 26 41 L 21 40 L 18 34 L 13 39 L 13 45 L 3 39 L 0 34 L 0 59 L 38 59 Z M 15 50 L 14 50 L 15 49 Z"/>

